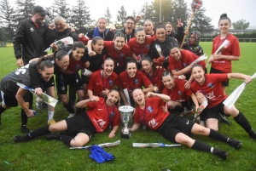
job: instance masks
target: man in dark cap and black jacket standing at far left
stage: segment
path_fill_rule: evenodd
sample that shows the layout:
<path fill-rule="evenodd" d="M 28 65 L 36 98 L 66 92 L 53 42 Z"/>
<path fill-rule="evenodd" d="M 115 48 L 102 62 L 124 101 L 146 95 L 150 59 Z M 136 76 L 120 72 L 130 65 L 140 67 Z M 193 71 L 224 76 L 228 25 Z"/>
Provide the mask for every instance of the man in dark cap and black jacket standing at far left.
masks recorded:
<path fill-rule="evenodd" d="M 45 39 L 48 26 L 44 23 L 45 15 L 49 13 L 41 6 L 33 9 L 32 18 L 21 20 L 14 36 L 15 58 L 17 66 L 26 66 L 29 60 L 43 56 L 45 49 Z M 29 108 L 32 109 L 32 94 L 30 96 Z M 29 133 L 26 128 L 26 112 L 21 109 L 21 132 Z"/>

